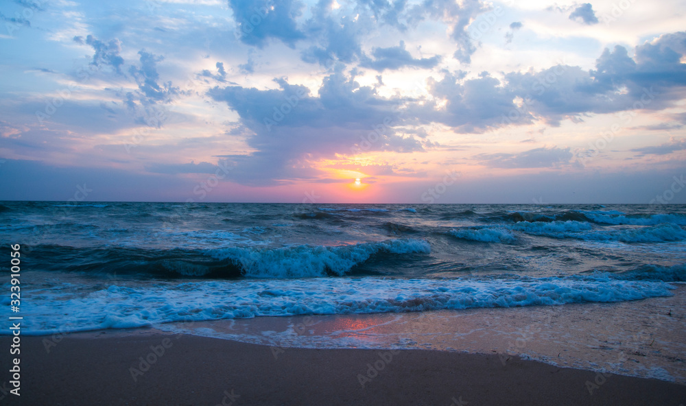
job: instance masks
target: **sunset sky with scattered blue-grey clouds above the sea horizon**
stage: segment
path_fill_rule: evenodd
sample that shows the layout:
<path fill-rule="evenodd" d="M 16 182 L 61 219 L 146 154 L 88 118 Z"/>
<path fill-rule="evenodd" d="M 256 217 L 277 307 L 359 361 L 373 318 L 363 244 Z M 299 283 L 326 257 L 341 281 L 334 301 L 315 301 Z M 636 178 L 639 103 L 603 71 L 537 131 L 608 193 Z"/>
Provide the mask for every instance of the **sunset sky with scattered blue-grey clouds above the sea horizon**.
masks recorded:
<path fill-rule="evenodd" d="M 686 0 L 6 0 L 0 200 L 686 203 Z"/>

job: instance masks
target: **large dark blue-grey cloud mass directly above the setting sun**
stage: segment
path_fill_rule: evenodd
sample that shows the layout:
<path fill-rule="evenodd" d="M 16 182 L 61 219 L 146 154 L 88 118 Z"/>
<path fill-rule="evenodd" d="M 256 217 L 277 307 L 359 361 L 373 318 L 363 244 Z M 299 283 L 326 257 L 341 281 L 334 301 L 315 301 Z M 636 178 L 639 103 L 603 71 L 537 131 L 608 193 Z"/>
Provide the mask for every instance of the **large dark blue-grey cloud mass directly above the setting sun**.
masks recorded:
<path fill-rule="evenodd" d="M 324 78 L 318 97 L 305 86 L 277 79 L 279 89 L 215 87 L 209 96 L 224 101 L 248 129 L 255 152 L 222 156 L 235 164 L 232 178 L 247 184 L 309 179 L 320 173 L 307 162 L 362 151 L 415 152 L 423 142 L 396 134 L 398 101 L 359 86 L 342 71 Z M 376 129 L 376 131 L 375 131 Z"/>

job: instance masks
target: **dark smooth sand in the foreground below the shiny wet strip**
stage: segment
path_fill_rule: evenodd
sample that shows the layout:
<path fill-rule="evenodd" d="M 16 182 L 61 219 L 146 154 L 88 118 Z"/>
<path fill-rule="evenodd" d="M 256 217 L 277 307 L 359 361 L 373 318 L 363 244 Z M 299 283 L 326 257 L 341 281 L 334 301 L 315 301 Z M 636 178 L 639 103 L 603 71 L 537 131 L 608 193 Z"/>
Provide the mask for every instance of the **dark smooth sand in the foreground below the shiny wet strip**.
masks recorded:
<path fill-rule="evenodd" d="M 9 346 L 9 337 L 0 337 L 0 343 Z M 279 348 L 154 330 L 23 337 L 21 357 L 21 398 L 3 394 L 3 405 L 679 406 L 686 401 L 685 385 L 517 357 L 503 365 L 498 355 Z"/>

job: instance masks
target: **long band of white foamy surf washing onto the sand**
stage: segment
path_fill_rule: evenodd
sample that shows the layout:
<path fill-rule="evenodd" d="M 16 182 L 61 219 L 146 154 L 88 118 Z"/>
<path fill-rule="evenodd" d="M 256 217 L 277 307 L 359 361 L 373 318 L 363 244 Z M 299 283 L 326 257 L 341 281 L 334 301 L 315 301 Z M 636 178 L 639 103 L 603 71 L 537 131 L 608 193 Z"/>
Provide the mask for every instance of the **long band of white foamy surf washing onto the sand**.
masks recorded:
<path fill-rule="evenodd" d="M 670 296 L 670 289 L 673 288 L 667 283 L 617 280 L 602 275 L 516 280 L 213 280 L 152 286 L 119 283 L 90 290 L 60 286 L 36 291 L 41 300 L 27 301 L 22 308 L 26 322 L 22 332 L 47 335 L 260 316 L 621 302 Z M 0 299 L 0 312 L 8 312 L 8 300 Z"/>

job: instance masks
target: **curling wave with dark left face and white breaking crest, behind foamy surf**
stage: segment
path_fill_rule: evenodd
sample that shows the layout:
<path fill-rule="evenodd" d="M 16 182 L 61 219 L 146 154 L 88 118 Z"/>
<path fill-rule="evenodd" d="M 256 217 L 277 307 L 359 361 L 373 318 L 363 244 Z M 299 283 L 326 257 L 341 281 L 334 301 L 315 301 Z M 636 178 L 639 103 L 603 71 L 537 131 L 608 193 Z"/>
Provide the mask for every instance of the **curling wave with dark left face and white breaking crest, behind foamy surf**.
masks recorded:
<path fill-rule="evenodd" d="M 43 245 L 34 250 L 43 270 L 84 272 L 89 276 L 151 275 L 161 278 L 312 278 L 343 276 L 384 255 L 429 254 L 424 240 L 390 239 L 347 246 L 242 246 L 189 250 L 174 248 L 75 248 Z M 75 261 L 78 259 L 78 261 Z M 59 264 L 59 265 L 53 265 Z M 65 267 L 65 264 L 69 264 Z"/>

